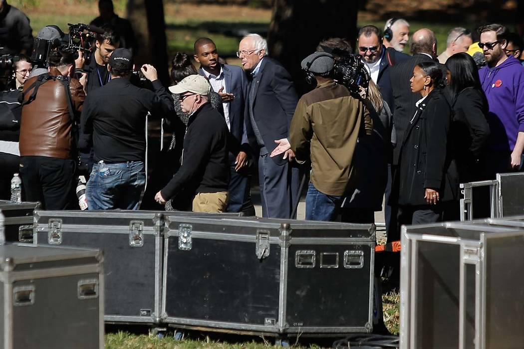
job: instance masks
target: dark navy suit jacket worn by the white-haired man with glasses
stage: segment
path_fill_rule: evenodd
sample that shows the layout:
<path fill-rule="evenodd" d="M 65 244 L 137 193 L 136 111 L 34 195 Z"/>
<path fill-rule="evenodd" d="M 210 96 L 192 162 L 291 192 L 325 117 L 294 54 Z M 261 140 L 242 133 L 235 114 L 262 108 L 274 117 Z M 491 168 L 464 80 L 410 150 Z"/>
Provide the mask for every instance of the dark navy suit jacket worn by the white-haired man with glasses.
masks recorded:
<path fill-rule="evenodd" d="M 289 125 L 297 107 L 298 96 L 291 80 L 291 75 L 274 59 L 264 57 L 260 70 L 251 84 L 255 84 L 253 96 L 246 99 L 246 130 L 249 144 L 257 153 L 257 144 L 251 118 L 249 117 L 249 99 L 253 98 L 253 116 L 258 130 L 269 153 L 275 147 L 275 140 L 289 137 Z M 279 165 L 287 163 L 282 155 L 272 157 Z"/>

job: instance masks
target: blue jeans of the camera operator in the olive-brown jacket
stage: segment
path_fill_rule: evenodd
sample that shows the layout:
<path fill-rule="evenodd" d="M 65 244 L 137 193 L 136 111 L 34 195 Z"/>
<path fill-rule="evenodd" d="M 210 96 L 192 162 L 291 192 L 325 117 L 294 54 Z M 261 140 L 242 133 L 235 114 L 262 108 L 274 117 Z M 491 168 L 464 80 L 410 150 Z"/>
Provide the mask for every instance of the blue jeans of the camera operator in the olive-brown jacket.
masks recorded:
<path fill-rule="evenodd" d="M 308 194 L 305 196 L 305 219 L 313 221 L 334 221 L 340 210 L 344 196 L 326 195 L 316 190 L 309 183 Z"/>

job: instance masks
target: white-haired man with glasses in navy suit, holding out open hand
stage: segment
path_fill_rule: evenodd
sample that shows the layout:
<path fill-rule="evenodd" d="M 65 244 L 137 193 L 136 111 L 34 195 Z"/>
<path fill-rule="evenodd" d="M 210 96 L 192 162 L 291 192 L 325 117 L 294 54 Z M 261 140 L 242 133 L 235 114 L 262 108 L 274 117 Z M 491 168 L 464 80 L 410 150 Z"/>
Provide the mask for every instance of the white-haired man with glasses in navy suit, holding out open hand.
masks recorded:
<path fill-rule="evenodd" d="M 248 34 L 238 46 L 238 57 L 250 80 L 246 99 L 246 131 L 258 156 L 262 215 L 291 217 L 297 204 L 299 172 L 290 161 L 290 151 L 269 157 L 275 140 L 289 137 L 289 125 L 298 103 L 291 76 L 280 63 L 267 57 L 267 42 Z"/>

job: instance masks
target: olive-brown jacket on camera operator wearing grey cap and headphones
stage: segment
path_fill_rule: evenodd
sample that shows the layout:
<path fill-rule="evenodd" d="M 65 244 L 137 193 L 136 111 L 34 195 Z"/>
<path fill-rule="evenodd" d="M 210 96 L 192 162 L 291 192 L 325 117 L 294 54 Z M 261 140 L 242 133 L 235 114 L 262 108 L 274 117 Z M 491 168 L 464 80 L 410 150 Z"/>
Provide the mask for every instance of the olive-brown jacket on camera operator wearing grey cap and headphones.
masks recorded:
<path fill-rule="evenodd" d="M 300 98 L 290 127 L 297 160 L 311 151 L 311 181 L 319 192 L 343 195 L 354 171 L 353 152 L 359 133 L 371 134 L 373 121 L 359 99 L 333 80 Z"/>

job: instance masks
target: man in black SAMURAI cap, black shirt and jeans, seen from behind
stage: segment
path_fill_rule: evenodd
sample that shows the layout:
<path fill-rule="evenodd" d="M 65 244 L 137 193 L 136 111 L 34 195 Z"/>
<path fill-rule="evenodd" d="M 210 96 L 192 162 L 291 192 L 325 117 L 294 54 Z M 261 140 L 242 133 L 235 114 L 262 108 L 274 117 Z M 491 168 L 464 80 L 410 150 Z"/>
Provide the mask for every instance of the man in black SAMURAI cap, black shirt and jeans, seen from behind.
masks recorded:
<path fill-rule="evenodd" d="M 92 136 L 95 160 L 86 188 L 91 210 L 138 208 L 146 180 L 146 116 L 171 117 L 174 111 L 155 67 L 141 67 L 155 92 L 129 82 L 133 67 L 131 51 L 116 49 L 107 64 L 110 81 L 88 94 L 82 110 L 80 147 Z"/>

